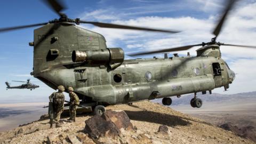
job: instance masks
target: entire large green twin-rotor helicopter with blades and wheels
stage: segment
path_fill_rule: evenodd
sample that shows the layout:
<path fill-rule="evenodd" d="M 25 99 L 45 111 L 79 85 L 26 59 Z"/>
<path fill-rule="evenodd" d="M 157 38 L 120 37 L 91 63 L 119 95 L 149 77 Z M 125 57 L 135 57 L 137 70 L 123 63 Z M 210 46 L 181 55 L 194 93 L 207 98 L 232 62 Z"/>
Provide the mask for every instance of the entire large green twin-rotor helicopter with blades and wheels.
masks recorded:
<path fill-rule="evenodd" d="M 135 29 L 178 33 L 175 30 L 161 30 L 110 23 L 69 19 L 61 13 L 63 5 L 56 0 L 45 1 L 59 14 L 60 18 L 35 25 L 2 28 L 1 31 L 43 26 L 34 30 L 34 68 L 31 75 L 46 85 L 57 89 L 58 85 L 72 86 L 81 99 L 81 105 L 89 107 L 95 114 L 102 114 L 105 106 L 132 103 L 140 100 L 163 98 L 163 105 L 171 105 L 171 96 L 195 93 L 192 107 L 201 107 L 202 100 L 197 92 L 211 91 L 217 87 L 229 88 L 235 73 L 221 59 L 220 46 L 245 45 L 216 42 L 223 22 L 235 1 L 229 1 L 224 14 L 214 29 L 211 42 L 175 47 L 172 49 L 130 53 L 142 55 L 188 50 L 203 46 L 196 57 L 174 57 L 124 60 L 123 49 L 108 48 L 105 37 L 93 31 L 79 28 L 79 23 L 89 23 L 103 28 Z M 75 25 L 76 24 L 76 25 Z M 67 92 L 67 91 L 66 91 Z"/>

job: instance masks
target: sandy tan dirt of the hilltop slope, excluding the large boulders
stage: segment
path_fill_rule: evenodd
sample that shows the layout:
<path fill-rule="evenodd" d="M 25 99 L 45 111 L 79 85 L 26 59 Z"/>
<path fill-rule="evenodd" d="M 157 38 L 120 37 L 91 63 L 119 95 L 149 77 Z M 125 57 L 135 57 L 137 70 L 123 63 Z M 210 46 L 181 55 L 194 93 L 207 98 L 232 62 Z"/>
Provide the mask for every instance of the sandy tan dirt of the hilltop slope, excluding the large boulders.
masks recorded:
<path fill-rule="evenodd" d="M 201 119 L 182 114 L 158 103 L 141 101 L 132 106 L 117 105 L 107 109 L 125 110 L 137 133 L 144 133 L 151 143 L 253 143 L 248 139 L 236 136 L 233 132 L 223 130 L 217 126 L 206 123 Z M 47 135 L 56 135 L 57 143 L 64 142 L 70 135 L 81 135 L 85 127 L 84 121 L 91 115 L 80 115 L 75 123 L 65 122 L 62 127 L 49 129 L 49 120 L 37 121 L 28 125 L 17 127 L 14 130 L 0 133 L 0 143 L 44 143 Z M 157 130 L 161 125 L 167 125 L 171 135 L 158 137 Z M 133 138 L 133 137 L 132 137 Z M 154 139 L 161 141 L 154 141 Z M 66 141 L 66 140 L 65 140 Z M 90 138 L 85 138 L 84 143 L 94 143 Z"/>

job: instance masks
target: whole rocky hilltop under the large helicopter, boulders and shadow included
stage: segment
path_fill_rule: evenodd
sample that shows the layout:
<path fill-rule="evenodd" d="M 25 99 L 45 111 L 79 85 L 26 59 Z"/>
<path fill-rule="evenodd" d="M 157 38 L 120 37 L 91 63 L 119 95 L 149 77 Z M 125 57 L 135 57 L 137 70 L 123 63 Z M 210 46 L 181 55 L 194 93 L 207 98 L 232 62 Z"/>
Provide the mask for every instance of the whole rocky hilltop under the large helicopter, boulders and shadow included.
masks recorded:
<path fill-rule="evenodd" d="M 106 108 L 102 116 L 77 115 L 73 123 L 62 117 L 61 127 L 53 129 L 43 116 L 41 121 L 1 132 L 0 143 L 253 143 L 149 101 Z"/>

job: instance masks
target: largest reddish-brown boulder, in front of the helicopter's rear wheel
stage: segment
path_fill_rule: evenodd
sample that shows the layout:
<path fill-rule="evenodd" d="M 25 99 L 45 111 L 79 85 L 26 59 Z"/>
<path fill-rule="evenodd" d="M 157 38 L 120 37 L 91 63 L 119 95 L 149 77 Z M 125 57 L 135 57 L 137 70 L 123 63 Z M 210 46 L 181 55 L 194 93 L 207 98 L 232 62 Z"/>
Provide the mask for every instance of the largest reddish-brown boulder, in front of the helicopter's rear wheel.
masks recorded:
<path fill-rule="evenodd" d="M 85 124 L 84 132 L 88 133 L 93 139 L 102 136 L 114 138 L 121 133 L 121 128 L 133 128 L 130 118 L 123 110 L 107 110 L 101 116 L 95 115 L 87 119 Z"/>

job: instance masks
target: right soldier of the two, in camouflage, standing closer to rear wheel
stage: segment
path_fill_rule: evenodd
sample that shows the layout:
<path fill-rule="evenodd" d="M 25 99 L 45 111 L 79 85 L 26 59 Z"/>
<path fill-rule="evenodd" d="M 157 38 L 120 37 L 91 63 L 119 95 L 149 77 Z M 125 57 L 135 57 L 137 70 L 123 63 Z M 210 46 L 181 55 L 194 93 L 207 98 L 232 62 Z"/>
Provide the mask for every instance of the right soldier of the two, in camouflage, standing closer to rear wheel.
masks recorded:
<path fill-rule="evenodd" d="M 75 122 L 76 121 L 76 108 L 77 105 L 79 105 L 79 98 L 76 95 L 76 93 L 74 92 L 73 87 L 68 87 L 68 92 L 69 92 L 69 115 L 70 118 L 68 119 L 71 122 Z"/>

